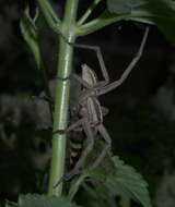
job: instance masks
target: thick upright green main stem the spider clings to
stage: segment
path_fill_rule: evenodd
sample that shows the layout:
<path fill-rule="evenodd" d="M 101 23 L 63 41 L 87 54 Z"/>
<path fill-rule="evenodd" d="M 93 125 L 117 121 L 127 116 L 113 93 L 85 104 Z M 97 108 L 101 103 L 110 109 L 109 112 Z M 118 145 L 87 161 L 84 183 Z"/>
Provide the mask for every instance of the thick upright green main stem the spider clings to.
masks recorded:
<path fill-rule="evenodd" d="M 74 24 L 77 16 L 79 0 L 67 0 L 65 19 L 62 22 L 62 33 L 65 37 L 74 42 Z M 73 48 L 66 44 L 60 37 L 59 61 L 57 76 L 69 77 L 72 69 Z M 56 104 L 54 113 L 54 131 L 66 130 L 68 125 L 68 108 L 69 108 L 69 90 L 70 81 L 57 80 L 56 83 Z M 49 195 L 60 196 L 62 192 L 62 183 L 57 187 L 54 185 L 63 175 L 65 156 L 66 155 L 66 134 L 55 134 L 52 137 L 52 158 L 49 176 Z"/>

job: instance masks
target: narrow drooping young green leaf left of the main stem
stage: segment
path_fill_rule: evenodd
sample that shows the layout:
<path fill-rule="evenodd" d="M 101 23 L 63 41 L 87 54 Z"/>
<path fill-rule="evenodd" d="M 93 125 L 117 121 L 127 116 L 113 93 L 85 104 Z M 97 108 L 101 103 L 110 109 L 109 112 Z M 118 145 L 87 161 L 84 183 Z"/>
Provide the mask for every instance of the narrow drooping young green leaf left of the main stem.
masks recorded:
<path fill-rule="evenodd" d="M 37 17 L 38 17 L 38 10 L 36 11 L 35 17 L 31 19 L 28 8 L 26 8 L 21 19 L 20 27 L 21 27 L 23 38 L 28 44 L 35 57 L 37 66 L 40 68 L 42 58 L 40 58 L 40 49 L 39 49 L 39 44 L 38 44 L 38 31 L 35 24 L 37 21 Z"/>

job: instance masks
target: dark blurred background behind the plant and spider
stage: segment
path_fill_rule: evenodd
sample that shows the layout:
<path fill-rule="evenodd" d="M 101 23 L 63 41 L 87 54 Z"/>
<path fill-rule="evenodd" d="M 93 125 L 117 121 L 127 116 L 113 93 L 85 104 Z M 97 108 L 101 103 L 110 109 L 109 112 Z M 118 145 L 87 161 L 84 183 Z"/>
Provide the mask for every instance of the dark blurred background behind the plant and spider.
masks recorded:
<path fill-rule="evenodd" d="M 52 1 L 60 16 L 63 3 Z M 89 3 L 80 2 L 79 15 Z M 31 0 L 30 4 L 34 15 L 35 2 Z M 24 8 L 20 0 L 0 2 L 0 206 L 5 199 L 16 200 L 19 193 L 43 193 L 48 176 L 51 123 L 47 104 L 38 107 L 36 101 L 44 85 L 20 31 Z M 104 8 L 102 3 L 92 19 Z M 78 42 L 101 47 L 115 81 L 135 57 L 143 28 L 121 21 L 78 38 Z M 40 32 L 40 47 L 51 80 L 59 42 L 58 35 L 46 26 Z M 102 78 L 93 51 L 75 49 L 78 73 L 82 63 Z M 101 101 L 109 109 L 105 125 L 113 138 L 113 153 L 143 174 L 156 207 L 175 206 L 175 45 L 151 26 L 143 56 L 129 78 Z"/>

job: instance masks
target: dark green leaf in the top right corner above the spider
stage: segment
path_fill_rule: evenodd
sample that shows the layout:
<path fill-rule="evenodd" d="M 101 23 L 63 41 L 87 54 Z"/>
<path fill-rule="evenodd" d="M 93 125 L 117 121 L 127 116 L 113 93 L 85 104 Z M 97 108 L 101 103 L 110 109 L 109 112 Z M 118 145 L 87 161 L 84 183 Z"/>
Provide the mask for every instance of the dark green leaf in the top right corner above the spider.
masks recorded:
<path fill-rule="evenodd" d="M 173 0 L 107 0 L 112 13 L 128 15 L 124 20 L 155 24 L 165 36 L 175 40 L 175 1 Z"/>

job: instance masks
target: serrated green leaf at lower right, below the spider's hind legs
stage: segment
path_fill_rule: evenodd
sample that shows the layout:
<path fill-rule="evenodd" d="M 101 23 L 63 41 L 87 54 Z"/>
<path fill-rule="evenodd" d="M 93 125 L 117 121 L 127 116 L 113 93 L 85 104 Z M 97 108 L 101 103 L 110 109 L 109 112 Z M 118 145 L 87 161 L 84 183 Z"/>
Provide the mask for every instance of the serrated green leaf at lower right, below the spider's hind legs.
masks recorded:
<path fill-rule="evenodd" d="M 104 162 L 92 172 L 84 173 L 84 178 L 90 178 L 92 182 L 90 186 L 84 183 L 85 190 L 91 192 L 92 197 L 104 200 L 104 206 L 109 205 L 112 200 L 116 206 L 115 197 L 126 196 L 142 204 L 143 207 L 151 207 L 148 183 L 117 156 L 106 156 Z"/>

